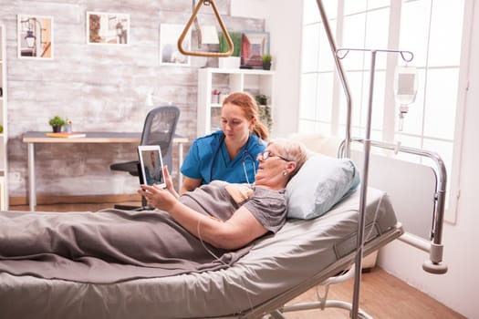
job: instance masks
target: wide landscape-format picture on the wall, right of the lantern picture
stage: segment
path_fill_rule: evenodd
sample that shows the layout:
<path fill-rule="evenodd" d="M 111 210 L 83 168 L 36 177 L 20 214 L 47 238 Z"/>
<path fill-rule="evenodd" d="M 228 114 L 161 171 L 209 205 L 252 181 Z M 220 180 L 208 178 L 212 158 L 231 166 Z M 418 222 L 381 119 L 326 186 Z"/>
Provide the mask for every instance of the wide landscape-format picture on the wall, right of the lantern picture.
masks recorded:
<path fill-rule="evenodd" d="M 87 12 L 87 43 L 89 45 L 128 45 L 130 15 Z"/>

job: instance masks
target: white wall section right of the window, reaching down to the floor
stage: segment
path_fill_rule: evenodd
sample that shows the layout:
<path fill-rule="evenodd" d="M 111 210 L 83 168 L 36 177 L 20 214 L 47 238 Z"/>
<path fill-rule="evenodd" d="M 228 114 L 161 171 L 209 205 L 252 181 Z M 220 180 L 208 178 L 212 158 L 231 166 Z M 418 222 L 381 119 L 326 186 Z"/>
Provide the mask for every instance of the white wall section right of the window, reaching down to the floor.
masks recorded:
<path fill-rule="evenodd" d="M 422 272 L 421 264 L 427 258 L 424 252 L 417 252 L 401 242 L 393 242 L 381 252 L 380 264 L 390 273 L 432 295 L 443 304 L 468 318 L 479 317 L 477 294 L 479 293 L 479 250 L 475 242 L 479 225 L 479 204 L 477 203 L 477 162 L 479 149 L 479 5 L 474 8 L 474 26 L 470 52 L 469 90 L 466 98 L 463 151 L 460 173 L 461 197 L 458 202 L 457 221 L 445 224 L 443 232 L 444 262 L 449 271 L 444 275 Z M 407 263 L 404 261 L 408 261 Z"/>

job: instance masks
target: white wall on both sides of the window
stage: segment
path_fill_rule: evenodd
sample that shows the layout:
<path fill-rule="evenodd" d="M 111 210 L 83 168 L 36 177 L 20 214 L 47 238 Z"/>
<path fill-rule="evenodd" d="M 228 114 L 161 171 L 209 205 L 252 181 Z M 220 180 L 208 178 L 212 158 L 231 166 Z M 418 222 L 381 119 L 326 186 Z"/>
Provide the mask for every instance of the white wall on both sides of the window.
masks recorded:
<path fill-rule="evenodd" d="M 244 1 L 244 0 L 233 0 Z M 301 43 L 301 2 L 282 1 L 281 5 L 268 0 L 266 29 L 272 33 L 272 52 L 276 56 L 276 130 L 284 134 L 296 129 L 299 100 L 299 62 Z M 254 3 L 253 1 L 250 1 Z M 263 1 L 262 1 L 263 2 Z M 273 5 L 275 4 L 275 5 Z M 251 7 L 253 8 L 253 6 Z M 251 9 L 250 8 L 250 9 Z M 449 271 L 433 275 L 422 271 L 422 262 L 428 259 L 426 252 L 419 251 L 403 242 L 395 241 L 380 252 L 380 266 L 406 283 L 431 295 L 441 303 L 468 318 L 479 318 L 476 296 L 479 293 L 479 249 L 475 247 L 474 235 L 479 226 L 477 203 L 477 163 L 479 149 L 479 5 L 474 9 L 473 47 L 470 53 L 470 88 L 468 92 L 463 125 L 462 170 L 460 178 L 461 198 L 457 221 L 445 224 L 443 231 L 443 260 Z M 276 103 L 275 103 L 276 104 Z M 390 305 L 387 305 L 390 306 Z"/>

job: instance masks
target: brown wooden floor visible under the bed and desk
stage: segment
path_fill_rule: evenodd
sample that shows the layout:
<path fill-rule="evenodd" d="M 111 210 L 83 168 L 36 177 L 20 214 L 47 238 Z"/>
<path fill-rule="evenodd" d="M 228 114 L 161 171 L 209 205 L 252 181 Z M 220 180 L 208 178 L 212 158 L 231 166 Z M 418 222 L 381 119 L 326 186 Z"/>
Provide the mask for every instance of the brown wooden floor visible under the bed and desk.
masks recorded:
<path fill-rule="evenodd" d="M 39 205 L 36 211 L 99 211 L 113 207 L 113 203 Z M 11 206 L 11 211 L 28 211 L 28 206 Z M 339 283 L 329 290 L 328 299 L 352 301 L 353 281 Z M 464 319 L 443 304 L 412 288 L 407 283 L 375 267 L 370 273 L 362 274 L 359 306 L 374 318 L 380 319 Z M 316 301 L 316 290 L 298 296 L 292 302 Z M 307 310 L 285 314 L 290 319 L 340 319 L 349 318 L 342 309 Z"/>

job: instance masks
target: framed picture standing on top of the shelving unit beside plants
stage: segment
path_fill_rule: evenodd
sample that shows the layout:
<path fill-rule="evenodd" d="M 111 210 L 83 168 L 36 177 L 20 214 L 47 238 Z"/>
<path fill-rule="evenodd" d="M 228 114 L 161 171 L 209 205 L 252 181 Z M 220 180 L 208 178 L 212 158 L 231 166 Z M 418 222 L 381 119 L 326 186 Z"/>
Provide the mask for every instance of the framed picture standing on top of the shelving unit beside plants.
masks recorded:
<path fill-rule="evenodd" d="M 263 68 L 262 57 L 269 53 L 269 32 L 244 32 L 241 42 L 241 67 Z"/>

